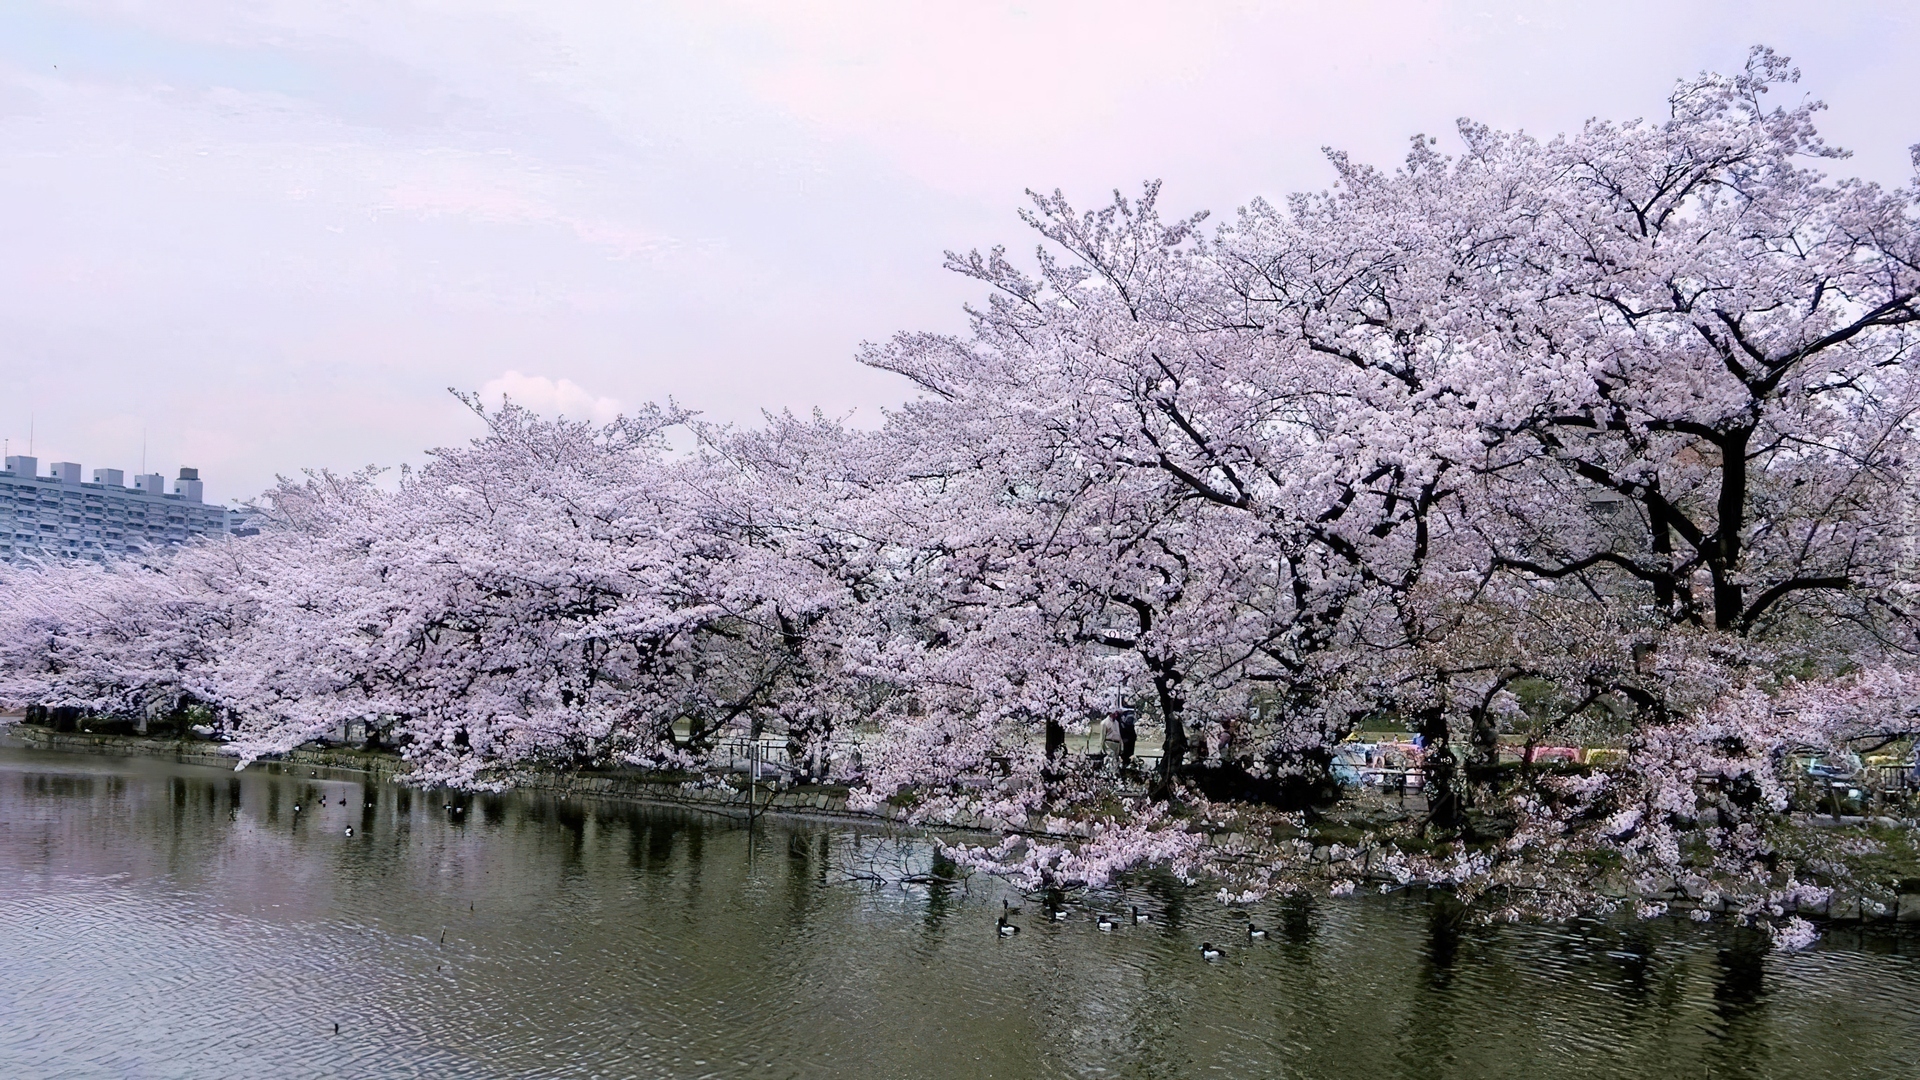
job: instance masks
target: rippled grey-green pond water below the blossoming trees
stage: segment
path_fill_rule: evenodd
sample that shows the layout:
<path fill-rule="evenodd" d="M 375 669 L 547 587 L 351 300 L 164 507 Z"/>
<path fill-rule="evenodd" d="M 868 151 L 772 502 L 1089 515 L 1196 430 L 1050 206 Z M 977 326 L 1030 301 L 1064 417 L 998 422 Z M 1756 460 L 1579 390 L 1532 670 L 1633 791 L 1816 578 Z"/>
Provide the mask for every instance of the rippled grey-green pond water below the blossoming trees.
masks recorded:
<path fill-rule="evenodd" d="M 1367 897 L 1250 942 L 1142 882 L 1066 922 L 1014 897 L 1000 938 L 989 880 L 868 880 L 924 865 L 829 824 L 0 748 L 0 1074 L 1920 1074 L 1910 936 L 1770 955 Z"/>

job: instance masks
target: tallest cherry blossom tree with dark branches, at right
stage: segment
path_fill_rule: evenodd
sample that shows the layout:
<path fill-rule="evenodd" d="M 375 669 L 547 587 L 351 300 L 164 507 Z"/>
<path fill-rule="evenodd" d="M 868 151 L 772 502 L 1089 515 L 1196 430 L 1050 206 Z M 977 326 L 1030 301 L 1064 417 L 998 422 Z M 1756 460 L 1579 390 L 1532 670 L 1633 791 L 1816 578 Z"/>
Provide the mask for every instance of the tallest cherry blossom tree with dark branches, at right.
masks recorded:
<path fill-rule="evenodd" d="M 1467 123 L 1459 160 L 1423 138 L 1392 175 L 1334 156 L 1332 192 L 1212 240 L 1164 225 L 1154 188 L 1089 215 L 1043 196 L 1037 277 L 954 258 L 995 288 L 973 334 L 868 361 L 1089 475 L 1244 515 L 1208 536 L 1265 544 L 1319 600 L 1286 623 L 1300 651 L 1250 655 L 1290 661 L 1284 700 L 1323 732 L 1359 709 L 1413 723 L 1444 834 L 1473 840 L 1452 742 L 1492 773 L 1511 686 L 1546 680 L 1561 721 L 1624 717 L 1626 786 L 1764 878 L 1753 815 L 1678 809 L 1720 798 L 1703 782 L 1778 790 L 1786 736 L 1730 717 L 1782 669 L 1818 684 L 1912 650 L 1912 192 L 1820 175 L 1818 106 L 1764 104 L 1791 81 L 1757 50 L 1684 83 L 1665 123 L 1551 142 Z M 1676 749 L 1703 744 L 1740 765 Z M 1571 821 L 1538 788 L 1496 798 Z M 1574 832 L 1670 853 L 1644 824 Z M 1461 865 L 1515 888 L 1546 869 L 1505 851 Z"/>

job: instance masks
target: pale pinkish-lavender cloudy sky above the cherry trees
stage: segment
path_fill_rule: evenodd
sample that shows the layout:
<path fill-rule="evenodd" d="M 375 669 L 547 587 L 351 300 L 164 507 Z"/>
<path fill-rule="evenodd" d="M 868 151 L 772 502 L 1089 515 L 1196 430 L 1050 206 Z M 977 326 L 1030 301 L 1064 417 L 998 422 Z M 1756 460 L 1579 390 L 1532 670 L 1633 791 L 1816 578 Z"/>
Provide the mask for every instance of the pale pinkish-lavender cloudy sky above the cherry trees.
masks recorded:
<path fill-rule="evenodd" d="M 445 388 L 877 423 L 1025 188 L 1325 188 L 1457 117 L 1659 117 L 1789 54 L 1834 171 L 1912 177 L 1920 6 L 305 0 L 0 4 L 0 434 L 46 461 L 419 461 Z"/>

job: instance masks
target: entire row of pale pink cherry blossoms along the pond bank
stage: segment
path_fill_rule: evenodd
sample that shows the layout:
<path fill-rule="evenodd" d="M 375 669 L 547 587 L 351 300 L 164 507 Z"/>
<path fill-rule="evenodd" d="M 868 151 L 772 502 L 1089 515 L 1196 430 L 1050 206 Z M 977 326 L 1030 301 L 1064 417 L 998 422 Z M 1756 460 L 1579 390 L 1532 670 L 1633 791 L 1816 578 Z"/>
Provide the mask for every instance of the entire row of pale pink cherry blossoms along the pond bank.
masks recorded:
<path fill-rule="evenodd" d="M 1306 836 L 1384 717 L 1428 811 L 1334 892 L 1791 919 L 1832 867 L 1778 842 L 1789 759 L 1912 732 L 1920 648 L 1920 188 L 1830 179 L 1793 79 L 1755 50 L 1659 123 L 1332 154 L 1212 231 L 1152 184 L 1035 196 L 1029 269 L 948 256 L 968 334 L 862 354 L 924 390 L 881 430 L 509 405 L 397 488 L 282 482 L 255 538 L 0 571 L 0 700 L 190 701 L 242 759 L 384 717 L 463 786 L 776 730 L 868 805 L 998 824 L 979 865 L 1238 897 L 1319 846 L 1202 844 L 1200 778 Z M 1152 798 L 1046 757 L 1116 701 Z M 1501 771 L 1513 734 L 1619 753 Z"/>

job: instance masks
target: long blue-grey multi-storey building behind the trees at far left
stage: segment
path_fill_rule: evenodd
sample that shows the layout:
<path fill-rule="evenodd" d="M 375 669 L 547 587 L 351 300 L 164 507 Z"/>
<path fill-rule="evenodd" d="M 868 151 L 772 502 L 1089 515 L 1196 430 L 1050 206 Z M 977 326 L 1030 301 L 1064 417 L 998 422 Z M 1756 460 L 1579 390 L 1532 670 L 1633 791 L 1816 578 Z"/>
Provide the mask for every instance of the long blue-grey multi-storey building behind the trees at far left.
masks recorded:
<path fill-rule="evenodd" d="M 127 486 L 119 469 L 94 469 L 83 480 L 77 461 L 12 455 L 0 471 L 0 559 L 108 559 L 186 544 L 230 530 L 232 511 L 202 502 L 198 469 L 165 477 L 142 473 Z"/>

